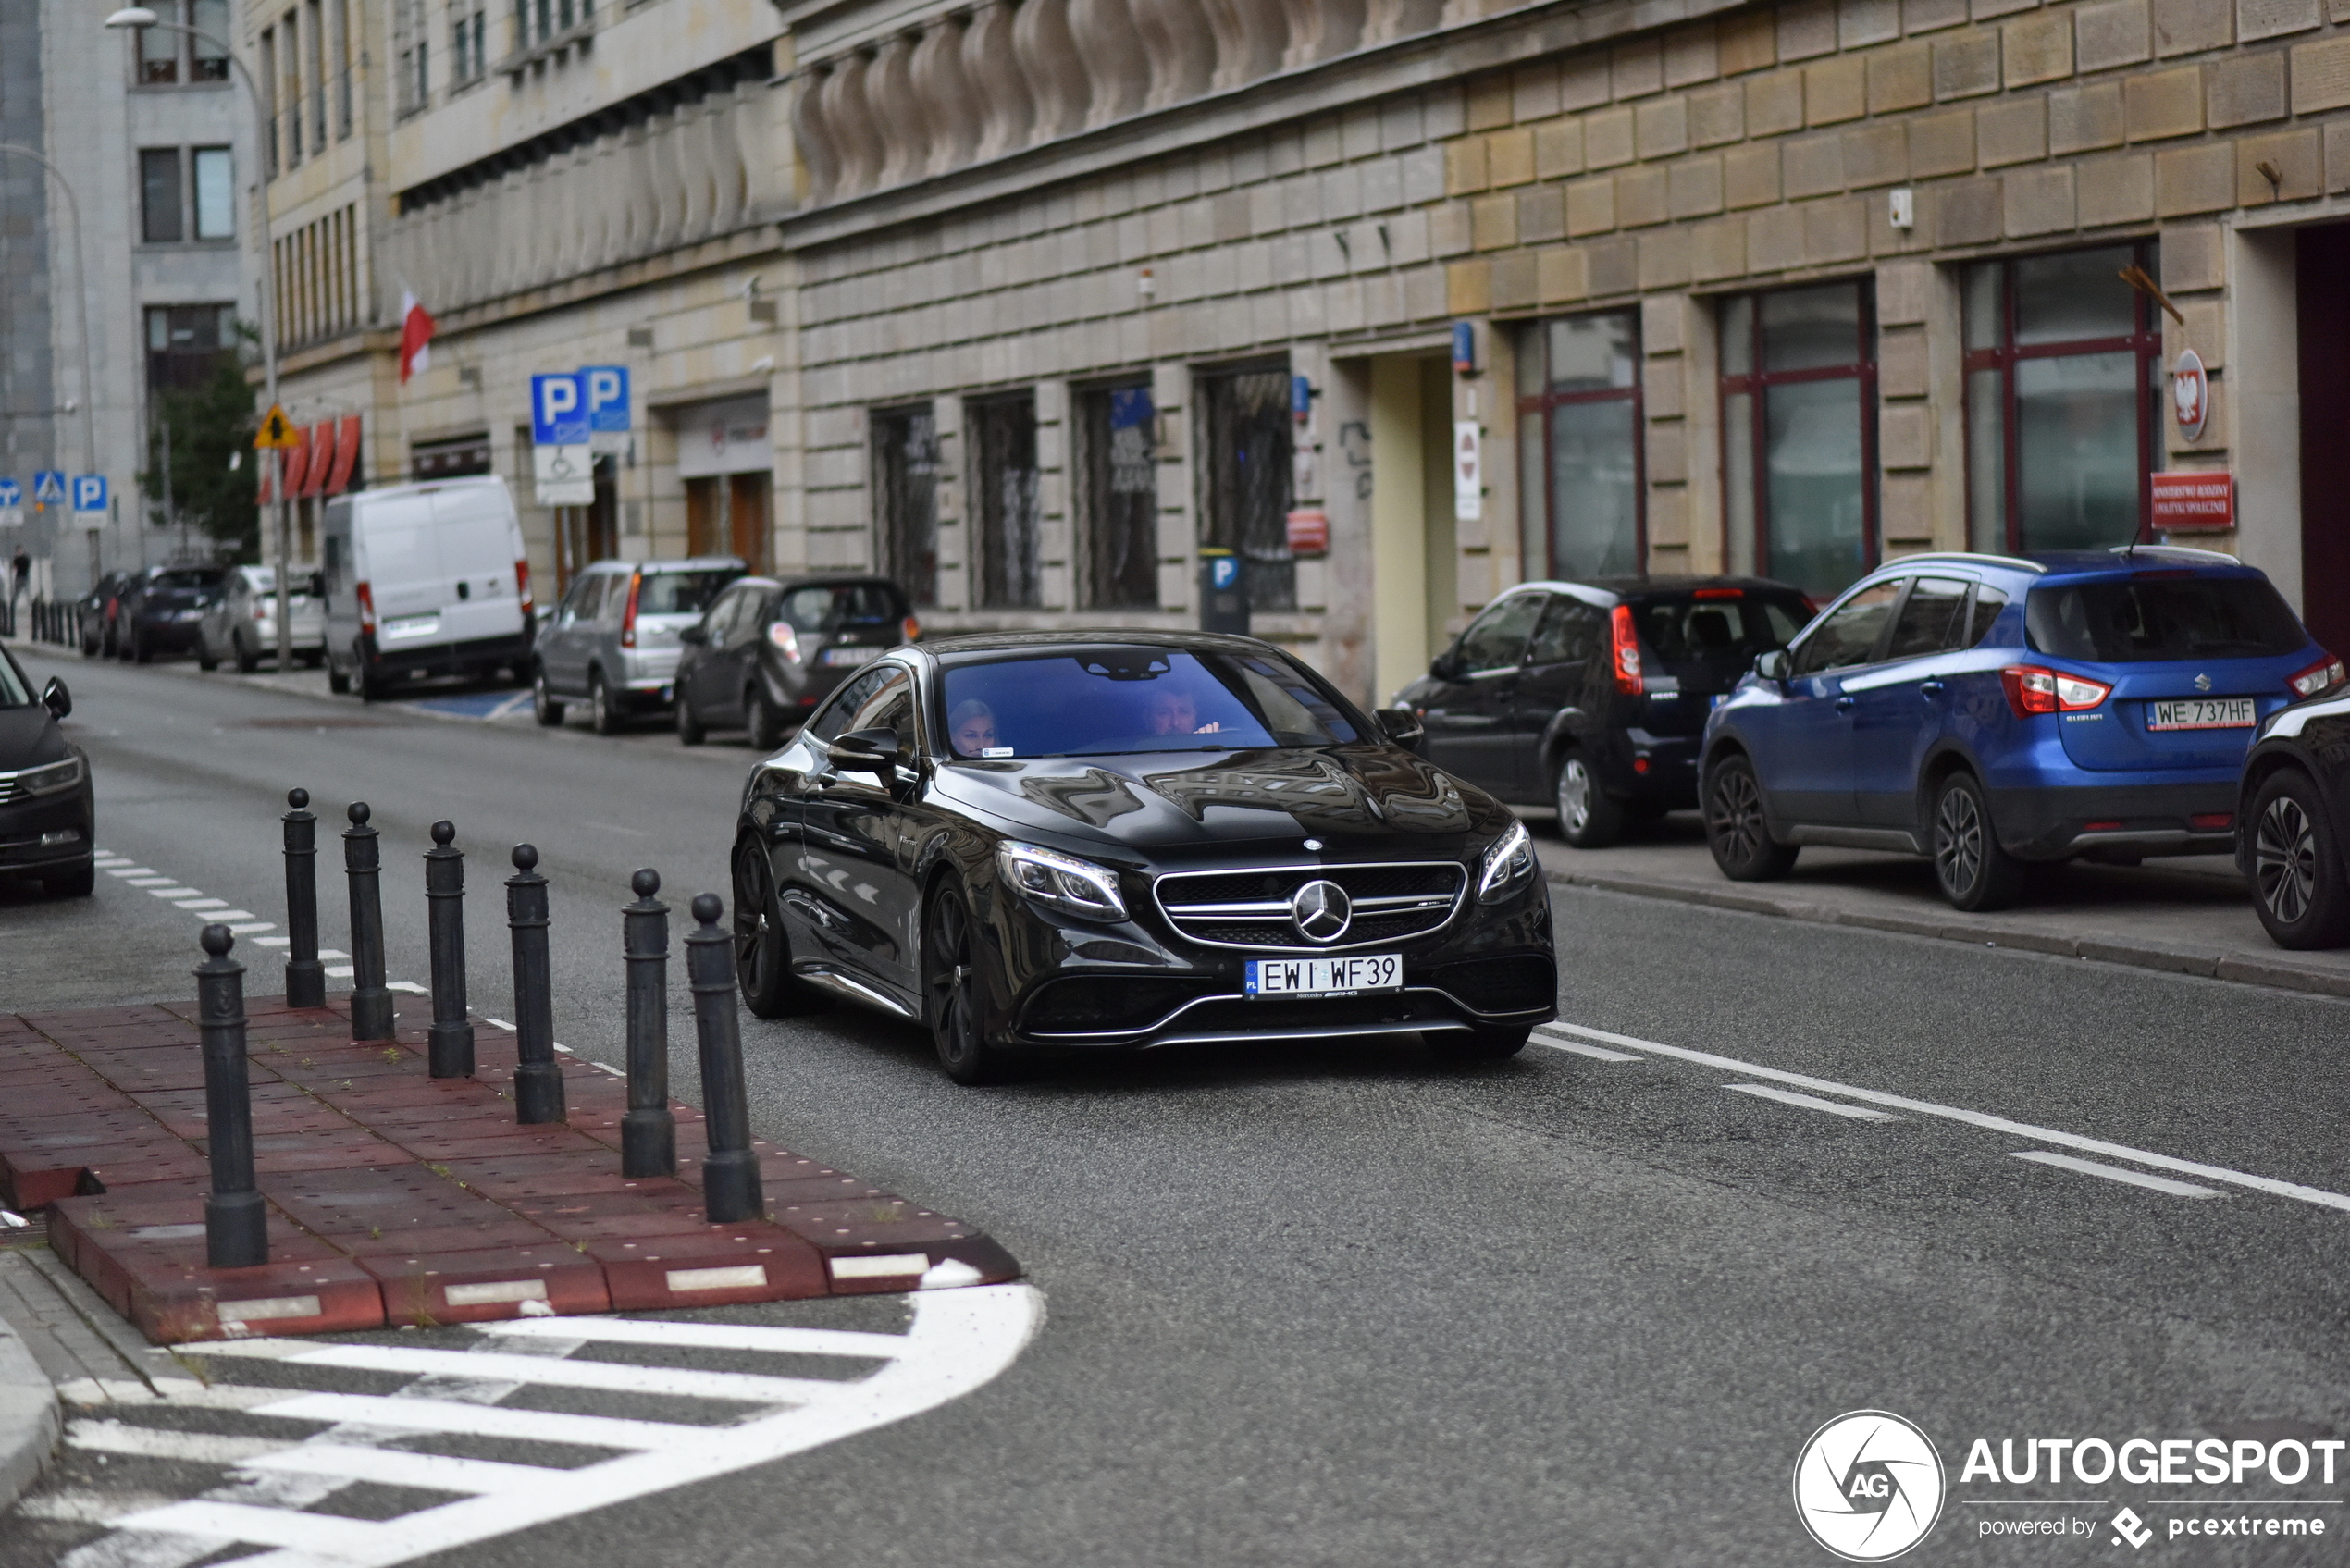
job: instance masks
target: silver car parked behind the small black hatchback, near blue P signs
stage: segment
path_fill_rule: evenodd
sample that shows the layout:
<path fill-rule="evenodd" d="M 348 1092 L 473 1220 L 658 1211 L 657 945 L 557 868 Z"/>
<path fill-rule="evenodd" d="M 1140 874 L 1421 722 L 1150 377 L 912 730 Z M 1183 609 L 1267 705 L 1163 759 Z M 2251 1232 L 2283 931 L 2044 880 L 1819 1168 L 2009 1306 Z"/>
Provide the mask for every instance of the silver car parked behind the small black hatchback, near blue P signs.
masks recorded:
<path fill-rule="evenodd" d="M 665 710 L 677 684 L 677 635 L 745 571 L 731 555 L 597 562 L 580 571 L 538 632 L 538 722 L 562 724 L 566 703 L 585 698 L 595 731 L 611 736 L 630 715 Z"/>

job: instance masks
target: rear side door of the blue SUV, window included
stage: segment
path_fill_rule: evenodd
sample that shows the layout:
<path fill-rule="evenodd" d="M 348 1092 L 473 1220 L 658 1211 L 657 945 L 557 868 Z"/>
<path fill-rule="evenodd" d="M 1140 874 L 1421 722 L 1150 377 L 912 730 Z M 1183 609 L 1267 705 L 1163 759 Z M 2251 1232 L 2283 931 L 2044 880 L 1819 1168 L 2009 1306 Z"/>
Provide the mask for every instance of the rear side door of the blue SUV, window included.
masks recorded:
<path fill-rule="evenodd" d="M 1885 654 L 1845 677 L 1852 705 L 1852 790 L 1864 827 L 1918 825 L 1918 769 L 1950 722 L 1948 654 L 1967 639 L 1967 590 L 1950 576 L 1911 578 Z"/>

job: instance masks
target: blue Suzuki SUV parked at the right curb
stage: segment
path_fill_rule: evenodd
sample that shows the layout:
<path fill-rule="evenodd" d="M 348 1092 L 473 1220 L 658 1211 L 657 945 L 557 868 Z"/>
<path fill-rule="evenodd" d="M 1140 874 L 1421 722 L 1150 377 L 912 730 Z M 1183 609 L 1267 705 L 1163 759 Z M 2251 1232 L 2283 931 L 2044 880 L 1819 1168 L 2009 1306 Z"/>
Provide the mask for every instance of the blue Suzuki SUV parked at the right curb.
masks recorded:
<path fill-rule="evenodd" d="M 1911 555 L 1708 715 L 1706 842 L 1737 882 L 1805 844 L 1932 856 L 1960 910 L 2028 860 L 2228 853 L 2254 726 L 2341 682 L 2228 555 Z"/>

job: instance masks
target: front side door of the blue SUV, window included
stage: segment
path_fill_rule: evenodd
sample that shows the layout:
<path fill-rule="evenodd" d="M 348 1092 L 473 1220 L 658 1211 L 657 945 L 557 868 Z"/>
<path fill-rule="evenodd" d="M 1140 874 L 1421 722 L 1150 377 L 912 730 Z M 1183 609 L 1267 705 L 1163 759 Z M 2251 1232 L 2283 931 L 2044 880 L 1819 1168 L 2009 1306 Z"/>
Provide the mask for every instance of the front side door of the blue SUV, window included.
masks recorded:
<path fill-rule="evenodd" d="M 1741 722 L 1755 778 L 1779 823 L 1859 820 L 1859 795 L 1852 788 L 1856 698 L 1845 693 L 1845 679 L 1875 663 L 1899 597 L 1901 578 L 1894 578 L 1868 583 L 1831 607 L 1788 649 L 1779 701 L 1755 708 Z"/>

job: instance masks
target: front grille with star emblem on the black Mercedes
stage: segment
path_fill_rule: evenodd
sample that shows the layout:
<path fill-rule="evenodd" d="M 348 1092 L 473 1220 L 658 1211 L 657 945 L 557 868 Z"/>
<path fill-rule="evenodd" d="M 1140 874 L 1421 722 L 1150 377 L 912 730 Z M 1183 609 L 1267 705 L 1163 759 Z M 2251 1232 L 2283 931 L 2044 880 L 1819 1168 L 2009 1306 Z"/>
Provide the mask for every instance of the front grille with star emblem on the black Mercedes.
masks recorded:
<path fill-rule="evenodd" d="M 1344 938 L 1309 943 L 1290 919 L 1290 896 L 1309 882 L 1335 882 L 1354 900 Z M 1443 929 L 1459 907 L 1469 872 L 1450 860 L 1394 865 L 1281 865 L 1262 872 L 1170 872 L 1154 884 L 1159 910 L 1194 943 L 1210 947 L 1304 947 L 1344 952 L 1401 943 Z"/>

